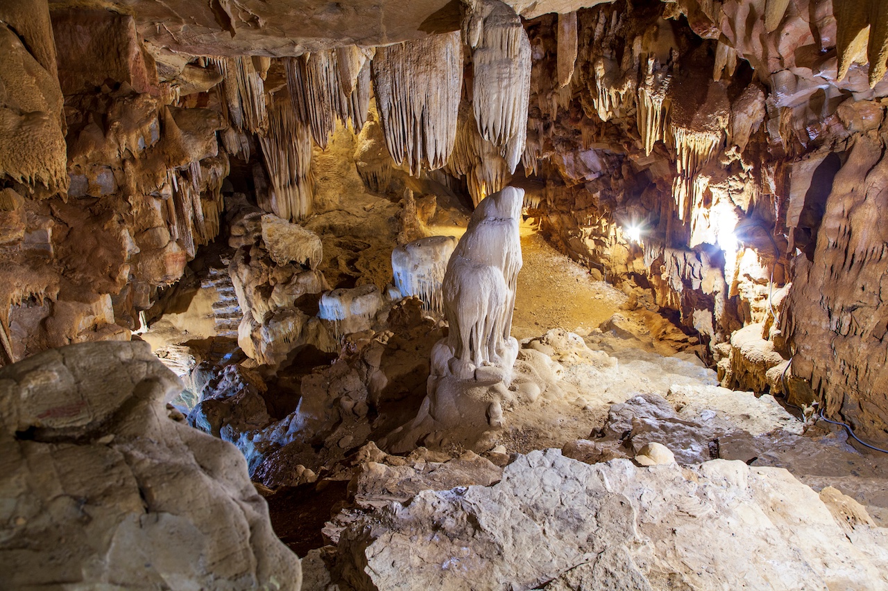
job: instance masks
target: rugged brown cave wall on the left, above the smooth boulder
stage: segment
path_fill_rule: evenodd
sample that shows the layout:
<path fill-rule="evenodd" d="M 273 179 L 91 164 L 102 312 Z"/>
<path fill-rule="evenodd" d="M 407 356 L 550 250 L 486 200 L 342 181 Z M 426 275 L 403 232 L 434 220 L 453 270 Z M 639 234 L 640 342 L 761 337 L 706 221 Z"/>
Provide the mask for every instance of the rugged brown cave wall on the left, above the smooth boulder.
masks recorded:
<path fill-rule="evenodd" d="M 178 280 L 218 233 L 228 160 L 218 114 L 173 105 L 131 16 L 51 17 L 45 3 L 24 1 L 3 10 L 12 57 L 0 67 L 3 113 L 13 126 L 0 142 L 8 363 L 67 343 L 129 339 L 156 289 Z M 16 28 L 19 14 L 39 19 Z"/>

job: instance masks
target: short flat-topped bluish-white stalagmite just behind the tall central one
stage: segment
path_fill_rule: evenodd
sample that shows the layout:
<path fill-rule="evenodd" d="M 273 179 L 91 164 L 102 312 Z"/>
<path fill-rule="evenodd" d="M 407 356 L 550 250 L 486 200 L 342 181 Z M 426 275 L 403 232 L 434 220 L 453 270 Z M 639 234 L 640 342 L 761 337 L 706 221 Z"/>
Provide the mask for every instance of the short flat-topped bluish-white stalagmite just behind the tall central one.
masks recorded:
<path fill-rule="evenodd" d="M 453 236 L 430 236 L 392 250 L 394 286 L 401 296 L 416 296 L 423 301 L 423 310 L 443 314 L 441 285 L 454 248 Z"/>

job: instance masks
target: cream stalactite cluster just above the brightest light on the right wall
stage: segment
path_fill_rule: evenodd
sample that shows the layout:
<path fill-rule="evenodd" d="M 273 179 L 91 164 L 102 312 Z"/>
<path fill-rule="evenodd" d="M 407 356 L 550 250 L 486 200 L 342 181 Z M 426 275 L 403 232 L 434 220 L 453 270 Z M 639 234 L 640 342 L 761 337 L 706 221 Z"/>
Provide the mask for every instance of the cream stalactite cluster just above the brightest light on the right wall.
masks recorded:
<path fill-rule="evenodd" d="M 694 206 L 702 201 L 702 185 L 695 182 L 697 171 L 724 141 L 722 131 L 687 130 L 673 127 L 676 168 L 678 175 L 672 183 L 672 196 L 678 205 L 678 219 L 687 220 Z"/>

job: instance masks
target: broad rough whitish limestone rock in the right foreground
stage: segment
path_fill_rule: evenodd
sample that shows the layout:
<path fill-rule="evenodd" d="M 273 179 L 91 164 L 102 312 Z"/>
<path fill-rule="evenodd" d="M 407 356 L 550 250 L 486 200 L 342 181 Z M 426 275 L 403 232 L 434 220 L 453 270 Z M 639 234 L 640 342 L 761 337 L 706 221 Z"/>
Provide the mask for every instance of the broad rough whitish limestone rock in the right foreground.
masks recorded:
<path fill-rule="evenodd" d="M 379 590 L 888 587 L 884 531 L 843 527 L 783 469 L 586 466 L 548 450 L 496 485 L 424 491 L 362 518 L 334 572 Z"/>

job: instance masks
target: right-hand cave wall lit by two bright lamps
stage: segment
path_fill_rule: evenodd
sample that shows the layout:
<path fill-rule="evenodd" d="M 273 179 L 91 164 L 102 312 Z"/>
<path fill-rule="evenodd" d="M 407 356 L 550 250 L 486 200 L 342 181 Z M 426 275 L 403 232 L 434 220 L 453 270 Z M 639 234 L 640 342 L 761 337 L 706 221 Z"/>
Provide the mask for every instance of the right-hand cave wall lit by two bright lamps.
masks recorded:
<path fill-rule="evenodd" d="M 884 31 L 858 45 L 849 31 L 884 17 L 778 4 L 616 2 L 575 29 L 527 22 L 526 205 L 593 275 L 676 311 L 725 385 L 786 390 L 765 373 L 791 358 L 790 381 L 883 439 Z M 732 343 L 750 325 L 757 344 Z"/>

